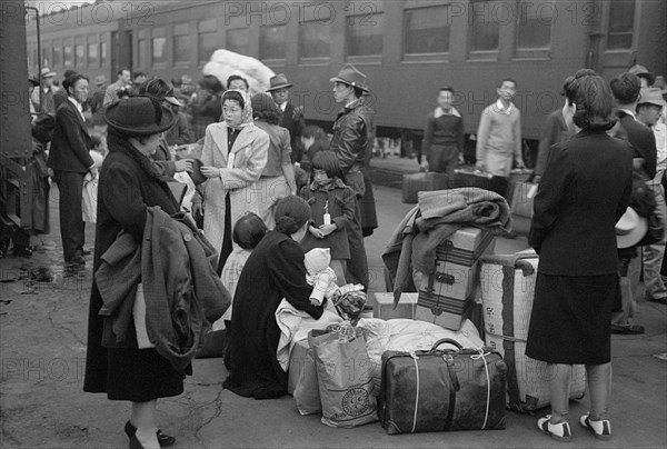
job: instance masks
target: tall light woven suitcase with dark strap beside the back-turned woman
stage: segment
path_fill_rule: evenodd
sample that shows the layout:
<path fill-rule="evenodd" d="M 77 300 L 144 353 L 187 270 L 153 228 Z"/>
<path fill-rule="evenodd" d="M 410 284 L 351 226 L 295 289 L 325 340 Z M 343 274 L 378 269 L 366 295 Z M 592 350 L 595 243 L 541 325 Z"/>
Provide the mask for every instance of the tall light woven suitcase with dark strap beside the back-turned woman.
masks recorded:
<path fill-rule="evenodd" d="M 480 259 L 485 341 L 507 363 L 507 403 L 517 411 L 531 411 L 550 403 L 547 363 L 525 353 L 538 260 L 532 250 Z M 583 398 L 585 388 L 586 369 L 575 365 L 570 399 Z"/>

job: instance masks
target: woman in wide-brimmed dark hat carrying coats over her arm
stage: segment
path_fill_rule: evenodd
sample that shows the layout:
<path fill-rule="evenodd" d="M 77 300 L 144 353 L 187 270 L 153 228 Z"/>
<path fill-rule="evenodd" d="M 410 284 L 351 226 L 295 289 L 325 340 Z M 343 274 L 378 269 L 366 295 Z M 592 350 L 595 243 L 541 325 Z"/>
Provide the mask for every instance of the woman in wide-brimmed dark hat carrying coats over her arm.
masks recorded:
<path fill-rule="evenodd" d="M 120 231 L 141 241 L 148 207 L 159 206 L 168 214 L 178 212 L 168 184 L 150 159 L 161 133 L 172 124 L 171 111 L 146 97 L 126 98 L 107 108 L 104 120 L 109 124 L 109 154 L 100 172 L 93 273 Z M 123 342 L 112 348 L 102 346 L 101 307 L 102 298 L 93 277 L 83 390 L 132 402 L 131 418 L 126 423 L 130 448 L 173 443 L 172 437 L 156 427 L 156 405 L 158 398 L 183 391 L 183 375 L 155 349 L 138 348 L 133 320 Z"/>

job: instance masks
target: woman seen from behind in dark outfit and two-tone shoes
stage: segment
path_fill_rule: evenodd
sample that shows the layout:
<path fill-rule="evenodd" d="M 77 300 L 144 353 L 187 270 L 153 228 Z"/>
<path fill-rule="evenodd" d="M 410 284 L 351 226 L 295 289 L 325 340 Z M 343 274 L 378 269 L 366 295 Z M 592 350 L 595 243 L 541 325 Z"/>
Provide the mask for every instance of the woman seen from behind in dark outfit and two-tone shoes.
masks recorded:
<path fill-rule="evenodd" d="M 615 225 L 633 180 L 627 142 L 607 136 L 615 122 L 607 81 L 578 73 L 563 109 L 577 134 L 551 147 L 535 197 L 529 242 L 539 255 L 526 355 L 547 362 L 551 415 L 541 431 L 569 441 L 568 386 L 573 365 L 585 365 L 590 411 L 579 422 L 599 439 L 611 436 L 611 309 L 617 300 Z M 574 123 L 573 123 L 574 122 Z"/>

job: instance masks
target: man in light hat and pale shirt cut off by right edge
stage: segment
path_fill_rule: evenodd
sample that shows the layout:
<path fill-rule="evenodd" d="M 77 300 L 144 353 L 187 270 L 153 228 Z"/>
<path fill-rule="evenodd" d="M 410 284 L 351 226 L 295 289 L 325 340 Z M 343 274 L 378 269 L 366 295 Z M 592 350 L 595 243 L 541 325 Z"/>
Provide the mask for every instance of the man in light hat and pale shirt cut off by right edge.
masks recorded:
<path fill-rule="evenodd" d="M 667 143 L 665 139 L 665 123 L 660 122 L 660 116 L 665 110 L 665 100 L 659 88 L 645 88 L 639 93 L 637 103 L 637 121 L 650 128 L 656 138 L 656 176 L 650 182 L 655 198 L 656 212 L 663 220 L 663 227 L 667 227 L 667 208 L 665 206 L 665 189 L 663 178 L 667 169 Z M 667 230 L 667 229 L 666 229 Z M 644 247 L 644 282 L 646 285 L 646 299 L 667 305 L 667 287 L 660 276 L 660 268 L 665 257 L 665 242 L 663 240 Z"/>

